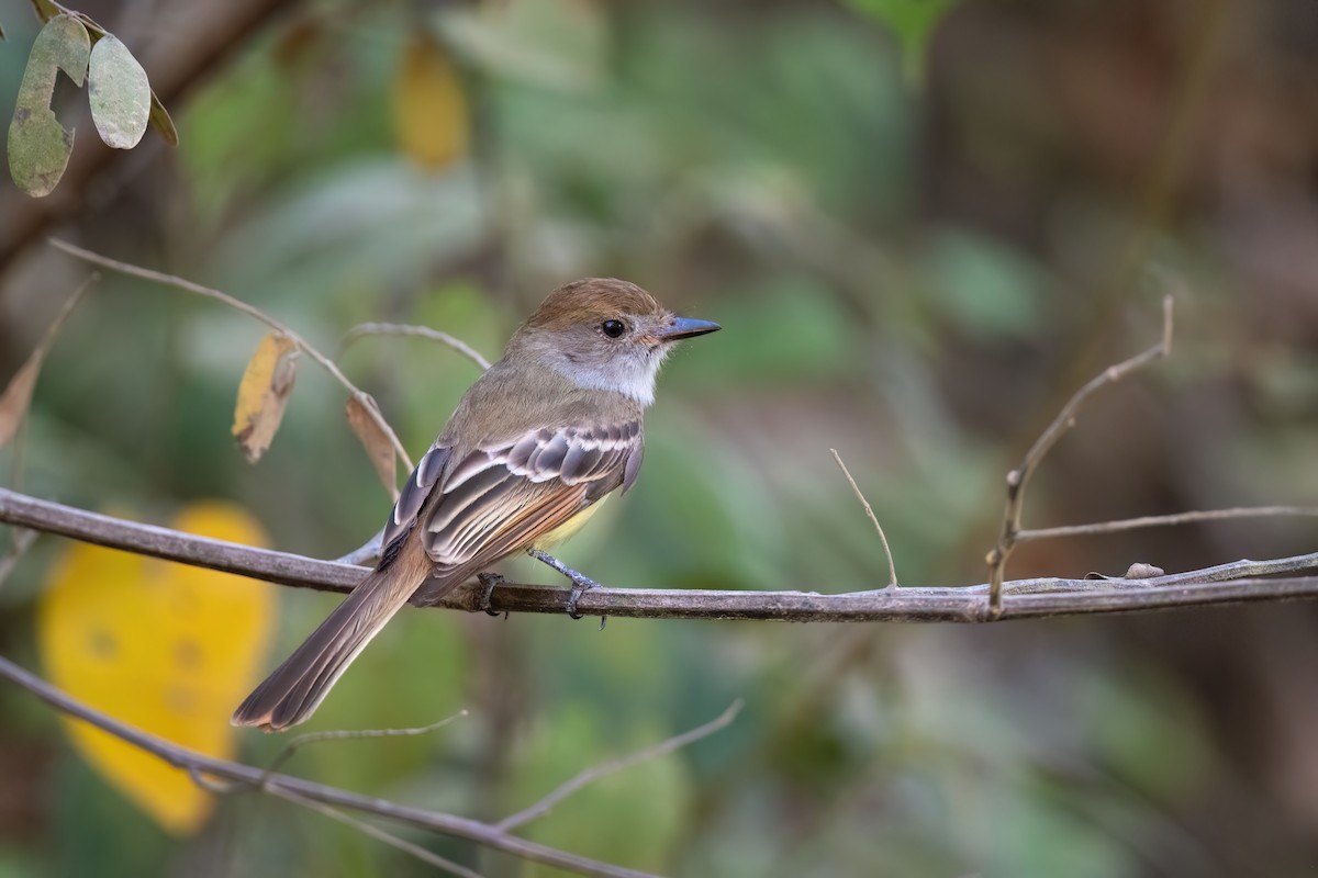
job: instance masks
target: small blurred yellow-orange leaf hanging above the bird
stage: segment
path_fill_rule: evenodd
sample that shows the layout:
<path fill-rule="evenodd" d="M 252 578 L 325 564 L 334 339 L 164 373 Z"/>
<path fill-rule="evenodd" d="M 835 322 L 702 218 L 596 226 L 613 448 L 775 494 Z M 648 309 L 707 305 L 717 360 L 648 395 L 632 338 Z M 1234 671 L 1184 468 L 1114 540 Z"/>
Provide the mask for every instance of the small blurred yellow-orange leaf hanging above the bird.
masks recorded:
<path fill-rule="evenodd" d="M 439 42 L 418 33 L 407 43 L 394 82 L 398 142 L 418 165 L 440 168 L 467 154 L 467 99 Z"/>

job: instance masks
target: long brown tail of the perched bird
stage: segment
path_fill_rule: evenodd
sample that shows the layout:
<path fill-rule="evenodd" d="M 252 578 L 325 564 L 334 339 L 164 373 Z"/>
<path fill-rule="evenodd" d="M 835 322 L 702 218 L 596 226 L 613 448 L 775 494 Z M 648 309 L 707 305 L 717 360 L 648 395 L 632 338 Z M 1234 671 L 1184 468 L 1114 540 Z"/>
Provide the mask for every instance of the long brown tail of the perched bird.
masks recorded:
<path fill-rule="evenodd" d="M 278 732 L 308 719 L 370 638 L 430 575 L 420 540 L 409 534 L 397 555 L 382 562 L 352 590 L 264 683 L 246 696 L 231 720 Z"/>

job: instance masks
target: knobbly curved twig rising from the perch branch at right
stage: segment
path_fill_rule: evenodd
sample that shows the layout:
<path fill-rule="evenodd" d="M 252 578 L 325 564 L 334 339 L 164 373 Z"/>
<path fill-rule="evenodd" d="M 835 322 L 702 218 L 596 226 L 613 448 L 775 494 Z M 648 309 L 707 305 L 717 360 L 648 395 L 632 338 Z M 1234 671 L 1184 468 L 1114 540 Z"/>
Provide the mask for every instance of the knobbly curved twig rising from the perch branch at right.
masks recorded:
<path fill-rule="evenodd" d="M 1130 359 L 1119 362 L 1115 366 L 1108 366 L 1075 391 L 1074 396 L 1062 405 L 1062 411 L 1057 413 L 1053 423 L 1040 433 L 1031 449 L 1025 452 L 1020 466 L 1007 474 L 1007 504 L 1002 513 L 1002 529 L 998 534 L 998 542 L 994 544 L 994 548 L 988 550 L 988 555 L 985 558 L 988 563 L 987 612 L 990 619 L 996 619 L 1002 615 L 1003 573 L 1007 566 L 1007 558 L 1020 538 L 1020 516 L 1025 504 L 1025 487 L 1029 484 L 1029 478 L 1035 474 L 1035 470 L 1039 469 L 1048 452 L 1057 445 L 1057 441 L 1075 426 L 1075 416 L 1090 396 L 1101 388 L 1115 384 L 1131 373 L 1148 366 L 1153 361 L 1170 355 L 1170 353 L 1172 296 L 1168 295 L 1162 296 L 1162 334 L 1159 342 Z"/>

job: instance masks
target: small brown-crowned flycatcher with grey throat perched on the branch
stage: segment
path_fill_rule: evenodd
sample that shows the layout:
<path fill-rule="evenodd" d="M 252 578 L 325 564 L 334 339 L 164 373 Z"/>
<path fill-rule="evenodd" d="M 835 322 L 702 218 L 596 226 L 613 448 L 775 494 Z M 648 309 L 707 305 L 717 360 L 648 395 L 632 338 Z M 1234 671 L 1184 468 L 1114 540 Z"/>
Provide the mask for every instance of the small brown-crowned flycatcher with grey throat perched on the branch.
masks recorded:
<path fill-rule="evenodd" d="M 424 607 L 526 550 L 567 538 L 641 470 L 642 415 L 676 341 L 718 324 L 677 317 L 641 287 L 589 278 L 559 287 L 472 384 L 416 463 L 385 525 L 380 563 L 233 713 L 265 731 L 302 723 L 409 600 Z"/>

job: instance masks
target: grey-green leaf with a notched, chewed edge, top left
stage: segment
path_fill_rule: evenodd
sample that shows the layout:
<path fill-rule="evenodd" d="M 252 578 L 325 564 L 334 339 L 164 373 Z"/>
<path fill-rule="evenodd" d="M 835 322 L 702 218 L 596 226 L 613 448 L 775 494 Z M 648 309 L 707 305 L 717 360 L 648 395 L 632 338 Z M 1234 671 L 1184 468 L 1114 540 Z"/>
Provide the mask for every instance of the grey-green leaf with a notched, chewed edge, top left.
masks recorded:
<path fill-rule="evenodd" d="M 33 197 L 50 195 L 74 151 L 72 129 L 61 125 L 50 109 L 55 76 L 63 70 L 82 86 L 90 55 L 87 29 L 70 16 L 47 21 L 32 43 L 9 125 L 9 174 Z"/>

